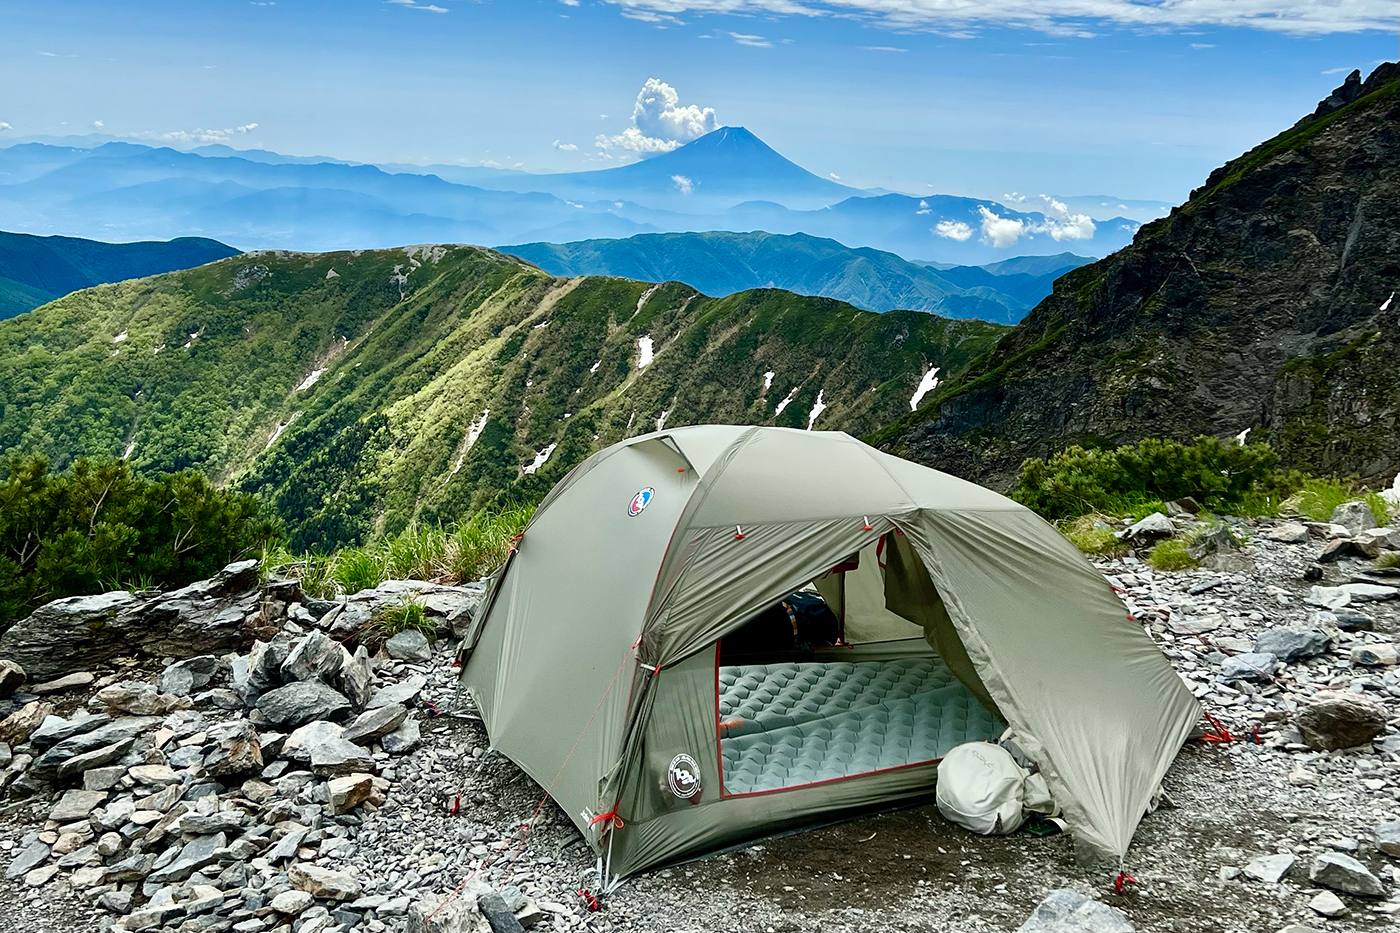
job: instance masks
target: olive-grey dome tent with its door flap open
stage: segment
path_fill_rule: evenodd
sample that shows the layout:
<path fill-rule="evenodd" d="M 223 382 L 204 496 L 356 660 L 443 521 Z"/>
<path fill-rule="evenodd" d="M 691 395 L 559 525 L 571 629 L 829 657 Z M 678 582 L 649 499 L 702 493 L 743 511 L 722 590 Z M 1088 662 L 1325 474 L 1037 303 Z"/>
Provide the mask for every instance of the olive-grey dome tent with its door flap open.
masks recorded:
<path fill-rule="evenodd" d="M 847 644 L 722 657 L 804 586 Z M 459 657 L 493 747 L 605 881 L 925 796 L 944 754 L 1008 724 L 1081 855 L 1121 864 L 1198 717 L 1049 524 L 839 431 L 694 426 L 594 454 L 539 506 Z"/>

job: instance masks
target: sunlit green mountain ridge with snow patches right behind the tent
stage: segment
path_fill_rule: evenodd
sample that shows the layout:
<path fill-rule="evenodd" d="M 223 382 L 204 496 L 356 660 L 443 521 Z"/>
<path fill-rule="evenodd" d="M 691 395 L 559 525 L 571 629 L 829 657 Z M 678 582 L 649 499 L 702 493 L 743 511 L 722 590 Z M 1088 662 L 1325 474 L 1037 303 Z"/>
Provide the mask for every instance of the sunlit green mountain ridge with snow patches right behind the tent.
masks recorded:
<path fill-rule="evenodd" d="M 472 247 L 249 254 L 0 322 L 0 450 L 197 466 L 333 545 L 538 499 L 664 424 L 867 433 L 1004 331 Z"/>

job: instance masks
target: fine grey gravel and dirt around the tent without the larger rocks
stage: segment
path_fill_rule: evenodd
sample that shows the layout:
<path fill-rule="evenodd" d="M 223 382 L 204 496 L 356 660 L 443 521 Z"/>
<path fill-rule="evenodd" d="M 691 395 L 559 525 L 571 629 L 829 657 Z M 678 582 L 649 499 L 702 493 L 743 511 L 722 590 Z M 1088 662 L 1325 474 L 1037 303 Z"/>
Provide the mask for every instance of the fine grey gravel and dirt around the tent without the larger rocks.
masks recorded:
<path fill-rule="evenodd" d="M 528 832 L 540 789 L 487 749 L 469 702 L 455 689 L 445 656 L 435 658 L 428 695 L 445 714 L 423 727 L 423 745 L 384 772 L 388 801 L 367 815 L 353 849 L 322 859 L 363 881 L 370 894 L 410 894 L 433 902 L 465 883 L 518 891 L 542 909 L 539 930 L 902 930 L 983 933 L 1015 930 L 1054 888 L 1075 888 L 1121 908 L 1140 930 L 1264 933 L 1289 923 L 1316 930 L 1392 930 L 1400 911 L 1400 862 L 1373 849 L 1373 828 L 1400 818 L 1400 754 L 1373 749 L 1316 752 L 1288 724 L 1299 702 L 1320 688 L 1365 685 L 1400 723 L 1396 668 L 1362 670 L 1348 660 L 1357 643 L 1396 642 L 1400 604 L 1362 607 L 1375 630 L 1341 633 L 1323 656 L 1285 665 L 1268 684 L 1224 684 L 1218 665 L 1228 639 L 1252 640 L 1280 625 L 1315 618 L 1305 605 L 1312 583 L 1302 573 L 1322 548 L 1274 544 L 1247 528 L 1252 572 L 1159 574 L 1134 559 L 1100 569 L 1126 590 L 1128 608 L 1161 643 L 1207 709 L 1259 742 L 1189 744 L 1168 773 L 1169 804 L 1141 824 L 1127 859 L 1140 885 L 1114 894 L 1103 871 L 1081 869 L 1067 836 L 973 836 L 931 804 L 865 815 L 770 838 L 623 884 L 603 909 L 589 912 L 578 888 L 589 885 L 592 853 L 573 824 L 547 801 Z M 1341 581 L 1369 565 L 1329 565 Z M 1219 629 L 1176 635 L 1172 622 L 1219 614 Z M 1334 633 L 1336 635 L 1336 633 Z M 1225 649 L 1222 650 L 1222 644 Z M 1299 778 L 1302 775 L 1302 778 Z M 455 815 L 451 803 L 461 794 Z M 46 804 L 45 804 L 46 806 Z M 36 828 L 43 807 L 0 815 L 4 850 Z M 519 846 L 525 841 L 524 848 Z M 1308 864 L 1327 850 L 1348 852 L 1386 885 L 1390 899 L 1343 895 L 1345 916 L 1309 908 L 1322 888 Z M 1291 852 L 1298 863 L 1281 883 L 1239 874 L 1253 857 Z M 514 890 L 514 891 L 512 891 Z M 403 929 L 406 918 L 382 916 Z M 0 880 L 0 932 L 97 930 L 108 922 L 69 890 L 63 876 L 39 888 Z"/>

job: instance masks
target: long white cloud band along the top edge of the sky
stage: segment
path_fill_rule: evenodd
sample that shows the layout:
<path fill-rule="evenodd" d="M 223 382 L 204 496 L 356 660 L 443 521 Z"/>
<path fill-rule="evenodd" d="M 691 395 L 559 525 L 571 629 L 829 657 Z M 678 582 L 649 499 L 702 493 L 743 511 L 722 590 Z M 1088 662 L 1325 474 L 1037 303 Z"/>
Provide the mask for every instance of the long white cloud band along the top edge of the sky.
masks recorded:
<path fill-rule="evenodd" d="M 753 14 L 840 17 L 868 25 L 967 38 L 983 27 L 1089 36 L 1091 27 L 1191 29 L 1232 27 L 1323 35 L 1393 32 L 1394 0 L 608 0 L 624 15 Z"/>

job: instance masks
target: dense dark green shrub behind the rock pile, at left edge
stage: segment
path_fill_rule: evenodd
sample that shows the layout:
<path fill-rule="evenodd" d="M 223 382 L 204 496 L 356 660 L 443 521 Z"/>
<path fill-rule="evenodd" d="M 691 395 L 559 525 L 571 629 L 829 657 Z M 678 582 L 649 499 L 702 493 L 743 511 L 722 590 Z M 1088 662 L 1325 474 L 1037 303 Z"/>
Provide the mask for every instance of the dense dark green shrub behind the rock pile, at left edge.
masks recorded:
<path fill-rule="evenodd" d="M 0 459 L 0 632 L 34 607 L 111 588 L 171 588 L 260 553 L 277 534 L 262 500 L 196 471 L 137 475 L 126 461 Z"/>

